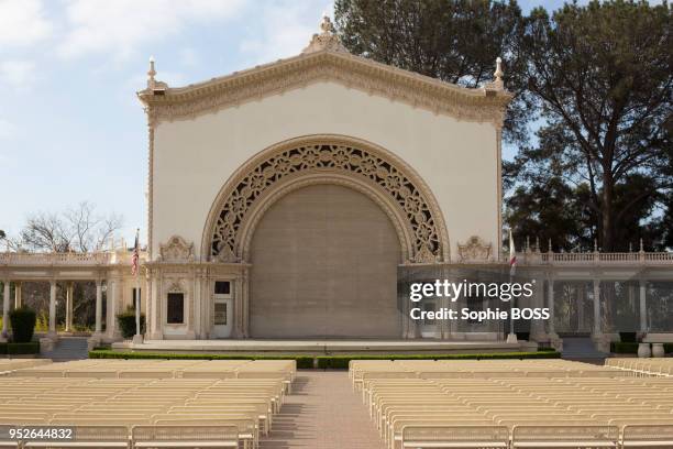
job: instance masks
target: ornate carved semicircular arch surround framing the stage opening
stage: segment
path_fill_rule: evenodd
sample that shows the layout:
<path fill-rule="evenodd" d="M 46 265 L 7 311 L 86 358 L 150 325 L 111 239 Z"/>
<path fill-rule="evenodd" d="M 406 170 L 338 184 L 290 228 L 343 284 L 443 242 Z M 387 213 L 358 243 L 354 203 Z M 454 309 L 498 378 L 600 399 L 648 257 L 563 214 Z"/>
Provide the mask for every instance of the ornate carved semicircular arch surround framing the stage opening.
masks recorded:
<path fill-rule="evenodd" d="M 450 260 L 442 211 L 423 179 L 387 150 L 360 139 L 319 134 L 291 139 L 257 153 L 220 189 L 201 239 L 201 254 L 244 262 L 262 213 L 306 183 L 349 184 L 388 213 L 402 248 L 402 263 Z"/>

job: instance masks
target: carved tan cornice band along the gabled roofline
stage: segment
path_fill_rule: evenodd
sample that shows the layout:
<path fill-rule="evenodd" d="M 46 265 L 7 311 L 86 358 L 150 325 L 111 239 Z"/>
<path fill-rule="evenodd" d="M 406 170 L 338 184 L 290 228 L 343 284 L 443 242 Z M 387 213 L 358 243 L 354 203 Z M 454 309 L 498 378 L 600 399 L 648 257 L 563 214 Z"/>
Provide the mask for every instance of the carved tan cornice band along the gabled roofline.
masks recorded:
<path fill-rule="evenodd" d="M 310 47 L 310 45 L 309 45 Z M 505 90 L 467 89 L 397 69 L 328 47 L 195 86 L 168 88 L 164 95 L 137 92 L 151 125 L 191 119 L 312 83 L 331 80 L 369 95 L 445 113 L 459 120 L 503 125 L 511 95 Z"/>

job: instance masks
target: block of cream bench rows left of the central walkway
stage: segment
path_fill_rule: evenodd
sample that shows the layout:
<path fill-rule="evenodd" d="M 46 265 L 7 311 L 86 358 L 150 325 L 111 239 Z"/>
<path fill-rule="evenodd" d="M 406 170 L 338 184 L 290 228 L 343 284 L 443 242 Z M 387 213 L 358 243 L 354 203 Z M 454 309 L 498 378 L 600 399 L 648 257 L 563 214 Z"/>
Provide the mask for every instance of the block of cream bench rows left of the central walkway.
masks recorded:
<path fill-rule="evenodd" d="M 236 441 L 241 440 L 245 448 L 253 448 L 258 445 L 260 436 L 268 434 L 273 426 L 274 415 L 280 409 L 288 391 L 287 385 L 291 383 L 295 372 L 294 361 L 278 361 L 280 363 L 276 364 L 275 371 L 274 363 L 267 363 L 271 361 L 260 362 L 263 365 L 258 366 L 261 369 L 246 372 L 262 372 L 265 374 L 263 376 L 224 379 L 217 375 L 194 379 L 108 377 L 97 376 L 95 372 L 91 376 L 85 376 L 84 371 L 81 376 L 18 375 L 20 372 L 32 371 L 22 370 L 13 372 L 12 375 L 0 376 L 0 425 L 75 426 L 78 435 L 79 429 L 90 427 L 90 431 L 82 430 L 85 440 L 77 442 L 77 447 L 87 447 L 86 438 L 92 438 L 95 434 L 98 435 L 97 438 L 108 438 L 109 435 L 110 440 L 119 439 L 119 435 L 123 434 L 122 428 L 126 435 L 124 441 L 133 447 L 155 447 L 143 445 L 152 438 L 156 442 L 158 436 L 169 438 L 168 435 L 173 435 L 170 438 L 175 441 L 188 441 L 184 445 L 176 442 L 178 447 L 230 447 L 227 445 L 233 440 L 229 437 L 220 440 L 222 445 L 211 441 L 209 446 L 201 441 L 197 446 L 190 446 L 189 441 L 198 440 L 195 439 L 196 435 L 230 435 L 229 430 L 233 426 L 236 428 Z M 287 362 L 291 365 L 288 366 Z M 213 363 L 209 369 L 217 371 L 219 361 Z M 62 365 L 67 372 L 79 372 L 86 363 L 67 362 L 54 365 Z M 73 370 L 73 365 L 76 365 L 77 370 Z M 102 368 L 108 370 L 106 372 L 113 371 L 111 366 L 103 365 L 106 363 L 98 365 L 97 372 L 103 372 Z M 141 368 L 140 364 L 137 366 Z M 167 366 L 163 368 L 165 370 Z M 126 369 L 129 366 L 124 368 Z M 175 364 L 173 369 L 176 369 Z M 272 375 L 273 373 L 276 374 Z M 205 425 L 211 426 L 212 431 L 202 427 L 196 432 L 190 430 Z M 103 442 L 120 443 L 119 440 L 98 440 L 99 446 L 92 447 L 107 447 Z M 5 447 L 3 443 L 18 447 L 16 441 L 0 441 L 0 447 Z M 76 445 L 76 441 L 71 443 Z M 40 442 L 33 440 L 24 443 L 25 447 L 36 447 L 35 445 Z M 53 447 L 53 443 L 49 447 Z M 156 447 L 174 446 L 164 441 Z"/>

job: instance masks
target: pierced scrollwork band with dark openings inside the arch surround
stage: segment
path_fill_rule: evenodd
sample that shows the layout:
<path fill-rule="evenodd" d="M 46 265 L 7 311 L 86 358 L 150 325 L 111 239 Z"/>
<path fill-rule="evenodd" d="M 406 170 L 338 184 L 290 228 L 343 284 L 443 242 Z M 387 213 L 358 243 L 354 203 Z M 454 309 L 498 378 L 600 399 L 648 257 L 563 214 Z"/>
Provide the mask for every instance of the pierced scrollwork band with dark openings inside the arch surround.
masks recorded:
<path fill-rule="evenodd" d="M 407 218 L 413 239 L 411 262 L 441 260 L 437 220 L 429 201 L 402 169 L 368 151 L 344 144 L 310 144 L 277 152 L 256 164 L 233 187 L 216 220 L 210 254 L 218 262 L 239 262 L 240 230 L 255 200 L 272 185 L 298 172 L 331 171 L 376 184 Z"/>

